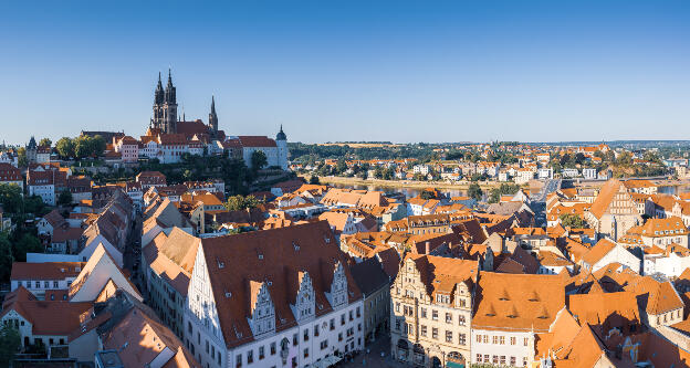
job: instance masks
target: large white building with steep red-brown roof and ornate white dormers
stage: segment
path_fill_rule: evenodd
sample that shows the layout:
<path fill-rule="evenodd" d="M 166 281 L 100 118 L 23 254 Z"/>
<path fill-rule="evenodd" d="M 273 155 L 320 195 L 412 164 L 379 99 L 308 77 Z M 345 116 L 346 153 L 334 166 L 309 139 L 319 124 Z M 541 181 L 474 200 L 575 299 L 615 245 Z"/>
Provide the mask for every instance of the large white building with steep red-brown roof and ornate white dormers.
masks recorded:
<path fill-rule="evenodd" d="M 202 239 L 185 344 L 205 367 L 330 366 L 363 349 L 363 316 L 325 222 Z"/>

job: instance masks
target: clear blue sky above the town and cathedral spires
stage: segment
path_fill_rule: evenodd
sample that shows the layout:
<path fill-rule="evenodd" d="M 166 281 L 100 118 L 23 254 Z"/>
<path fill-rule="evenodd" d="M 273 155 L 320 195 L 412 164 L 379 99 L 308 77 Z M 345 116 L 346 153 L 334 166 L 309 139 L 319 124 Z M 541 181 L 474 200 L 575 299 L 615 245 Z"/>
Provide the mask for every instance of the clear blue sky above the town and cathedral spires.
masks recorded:
<path fill-rule="evenodd" d="M 3 1 L 0 139 L 180 115 L 290 141 L 690 139 L 690 1 Z"/>

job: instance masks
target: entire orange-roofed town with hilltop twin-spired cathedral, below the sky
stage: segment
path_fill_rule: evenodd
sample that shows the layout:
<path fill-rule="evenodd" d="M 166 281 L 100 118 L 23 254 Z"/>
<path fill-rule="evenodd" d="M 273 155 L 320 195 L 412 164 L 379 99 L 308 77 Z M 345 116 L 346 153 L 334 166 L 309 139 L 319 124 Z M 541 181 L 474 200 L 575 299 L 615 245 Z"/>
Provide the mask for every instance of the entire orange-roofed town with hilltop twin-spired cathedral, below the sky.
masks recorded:
<path fill-rule="evenodd" d="M 164 80 L 2 145 L 1 365 L 686 366 L 690 144 L 289 143 Z"/>

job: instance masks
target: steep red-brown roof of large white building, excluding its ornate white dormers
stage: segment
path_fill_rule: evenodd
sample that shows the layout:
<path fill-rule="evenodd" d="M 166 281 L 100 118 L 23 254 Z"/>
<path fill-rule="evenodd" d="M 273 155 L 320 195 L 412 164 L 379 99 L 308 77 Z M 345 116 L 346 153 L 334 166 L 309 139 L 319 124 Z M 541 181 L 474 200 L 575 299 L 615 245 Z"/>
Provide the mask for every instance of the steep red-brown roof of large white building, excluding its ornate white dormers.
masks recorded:
<path fill-rule="evenodd" d="M 299 290 L 299 273 L 307 272 L 316 297 L 316 316 L 332 311 L 326 297 L 336 264 L 344 266 L 348 298 L 362 297 L 347 259 L 325 221 L 201 240 L 201 249 L 228 347 L 253 340 L 250 282 L 265 282 L 275 306 L 275 329 L 295 326 L 290 304 Z"/>

